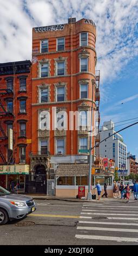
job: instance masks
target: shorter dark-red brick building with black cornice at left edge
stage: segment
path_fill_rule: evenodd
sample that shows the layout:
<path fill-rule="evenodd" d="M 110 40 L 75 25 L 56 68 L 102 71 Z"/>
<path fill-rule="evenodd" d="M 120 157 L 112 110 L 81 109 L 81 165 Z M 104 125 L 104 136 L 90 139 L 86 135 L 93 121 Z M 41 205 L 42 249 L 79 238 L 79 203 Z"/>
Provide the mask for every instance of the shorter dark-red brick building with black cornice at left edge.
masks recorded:
<path fill-rule="evenodd" d="M 0 64 L 0 185 L 25 192 L 31 151 L 31 62 Z"/>

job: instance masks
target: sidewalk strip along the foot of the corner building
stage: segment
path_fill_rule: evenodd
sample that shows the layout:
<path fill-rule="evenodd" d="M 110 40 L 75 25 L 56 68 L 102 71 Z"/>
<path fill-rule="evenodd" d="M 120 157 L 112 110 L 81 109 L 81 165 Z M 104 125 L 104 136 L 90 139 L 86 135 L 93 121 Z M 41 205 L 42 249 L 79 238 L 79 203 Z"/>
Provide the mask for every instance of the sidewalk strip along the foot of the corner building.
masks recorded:
<path fill-rule="evenodd" d="M 30 196 L 33 199 L 37 200 L 61 200 L 61 201 L 68 201 L 68 202 L 85 202 L 85 203 L 108 203 L 108 202 L 121 202 L 121 203 L 126 203 L 126 199 L 120 199 L 120 198 L 101 198 L 101 200 L 87 200 L 86 199 L 78 199 L 78 198 L 69 198 L 69 197 L 56 197 L 56 196 L 47 196 L 47 195 L 35 195 L 35 194 L 27 194 L 26 196 Z M 138 200 L 134 200 L 133 194 L 129 198 L 129 203 L 135 203 L 138 202 Z"/>

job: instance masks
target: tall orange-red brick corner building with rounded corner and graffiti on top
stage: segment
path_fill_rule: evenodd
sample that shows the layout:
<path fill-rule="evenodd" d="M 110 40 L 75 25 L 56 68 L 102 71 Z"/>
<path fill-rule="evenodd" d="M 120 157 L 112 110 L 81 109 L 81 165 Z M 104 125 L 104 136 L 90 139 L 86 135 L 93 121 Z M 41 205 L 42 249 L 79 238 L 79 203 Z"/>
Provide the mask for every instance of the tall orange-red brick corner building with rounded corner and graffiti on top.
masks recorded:
<path fill-rule="evenodd" d="M 95 41 L 96 26 L 87 19 L 32 29 L 30 192 L 49 194 L 56 180 L 56 195 L 69 196 L 70 188 L 76 196 L 78 185 L 88 185 L 89 152 L 84 151 L 100 139 L 93 136 L 90 145 L 91 106 L 97 132 L 100 123 Z M 98 164 L 98 147 L 92 154 Z M 79 164 L 87 164 L 86 172 L 79 171 Z"/>

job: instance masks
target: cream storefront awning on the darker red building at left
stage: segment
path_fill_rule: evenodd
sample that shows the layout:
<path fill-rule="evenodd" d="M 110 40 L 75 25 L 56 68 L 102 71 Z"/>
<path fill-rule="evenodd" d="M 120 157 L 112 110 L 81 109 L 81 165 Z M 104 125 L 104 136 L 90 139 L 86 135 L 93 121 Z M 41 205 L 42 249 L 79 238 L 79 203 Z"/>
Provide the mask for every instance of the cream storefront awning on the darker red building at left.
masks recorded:
<path fill-rule="evenodd" d="M 29 170 L 30 166 L 28 164 L 0 166 L 0 174 L 29 174 Z"/>

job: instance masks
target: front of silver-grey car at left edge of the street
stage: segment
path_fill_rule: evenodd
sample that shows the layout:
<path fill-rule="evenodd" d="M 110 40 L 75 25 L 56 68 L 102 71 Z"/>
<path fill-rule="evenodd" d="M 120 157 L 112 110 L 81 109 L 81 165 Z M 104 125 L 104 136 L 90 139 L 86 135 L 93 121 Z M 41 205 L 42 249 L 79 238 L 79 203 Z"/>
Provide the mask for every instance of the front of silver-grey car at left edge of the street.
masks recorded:
<path fill-rule="evenodd" d="M 9 220 L 22 219 L 35 210 L 31 197 L 10 193 L 0 186 L 0 225 Z"/>

